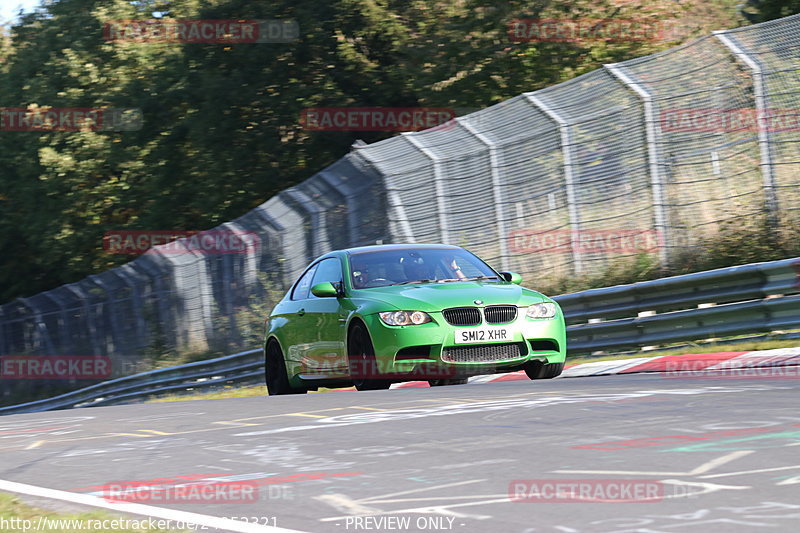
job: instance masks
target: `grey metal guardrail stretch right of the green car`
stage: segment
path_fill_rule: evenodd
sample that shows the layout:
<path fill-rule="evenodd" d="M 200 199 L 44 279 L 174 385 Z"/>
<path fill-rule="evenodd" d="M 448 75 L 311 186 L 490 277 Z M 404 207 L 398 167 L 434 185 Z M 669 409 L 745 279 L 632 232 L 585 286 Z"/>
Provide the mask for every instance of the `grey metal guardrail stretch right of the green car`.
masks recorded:
<path fill-rule="evenodd" d="M 554 298 L 571 353 L 800 328 L 800 258 Z"/>

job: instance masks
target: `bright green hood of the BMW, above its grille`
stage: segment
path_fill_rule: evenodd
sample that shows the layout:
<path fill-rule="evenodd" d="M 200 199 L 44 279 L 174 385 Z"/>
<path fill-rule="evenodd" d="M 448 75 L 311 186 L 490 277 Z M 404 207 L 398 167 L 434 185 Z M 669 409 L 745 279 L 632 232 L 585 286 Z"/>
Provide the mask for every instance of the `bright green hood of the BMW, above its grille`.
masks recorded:
<path fill-rule="evenodd" d="M 406 311 L 439 311 L 448 307 L 475 305 L 531 305 L 546 300 L 536 291 L 513 283 L 459 281 L 390 285 L 354 291 L 356 298 L 379 300 L 387 308 Z M 476 304 L 481 300 L 482 304 Z"/>

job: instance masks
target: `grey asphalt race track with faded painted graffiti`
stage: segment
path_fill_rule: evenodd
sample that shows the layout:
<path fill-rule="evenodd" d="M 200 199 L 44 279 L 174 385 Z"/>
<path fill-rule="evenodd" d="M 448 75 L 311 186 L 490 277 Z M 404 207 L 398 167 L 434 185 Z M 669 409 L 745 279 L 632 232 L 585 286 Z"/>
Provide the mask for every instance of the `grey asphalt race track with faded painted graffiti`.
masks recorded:
<path fill-rule="evenodd" d="M 0 480 L 247 481 L 143 503 L 309 532 L 797 531 L 799 400 L 796 376 L 641 374 L 13 415 Z"/>

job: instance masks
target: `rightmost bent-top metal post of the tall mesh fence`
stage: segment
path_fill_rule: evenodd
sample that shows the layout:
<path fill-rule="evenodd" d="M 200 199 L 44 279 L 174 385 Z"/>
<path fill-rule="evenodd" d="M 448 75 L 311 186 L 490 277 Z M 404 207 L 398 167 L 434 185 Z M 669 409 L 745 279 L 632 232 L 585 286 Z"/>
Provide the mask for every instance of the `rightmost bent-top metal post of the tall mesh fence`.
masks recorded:
<path fill-rule="evenodd" d="M 769 101 L 765 88 L 764 68 L 761 60 L 752 53 L 747 53 L 744 47 L 727 34 L 725 30 L 713 32 L 714 37 L 736 58 L 747 65 L 753 78 L 753 96 L 756 105 L 756 127 L 758 128 L 758 145 L 761 151 L 761 176 L 764 181 L 764 202 L 769 223 L 778 225 L 778 195 L 775 191 L 775 174 L 773 172 L 771 135 L 769 131 Z"/>

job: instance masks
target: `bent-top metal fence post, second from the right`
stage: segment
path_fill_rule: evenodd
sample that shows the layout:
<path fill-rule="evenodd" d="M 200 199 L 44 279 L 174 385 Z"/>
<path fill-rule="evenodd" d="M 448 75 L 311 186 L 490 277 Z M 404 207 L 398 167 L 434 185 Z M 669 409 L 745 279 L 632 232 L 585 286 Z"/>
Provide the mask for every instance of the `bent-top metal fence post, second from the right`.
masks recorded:
<path fill-rule="evenodd" d="M 658 130 L 652 93 L 642 83 L 634 81 L 619 64 L 603 65 L 623 85 L 642 100 L 644 108 L 645 136 L 647 139 L 647 159 L 650 165 L 650 184 L 653 186 L 653 217 L 657 237 L 660 240 L 658 258 L 662 269 L 669 267 L 669 217 L 664 193 L 664 178 L 658 159 Z"/>

